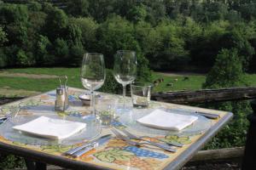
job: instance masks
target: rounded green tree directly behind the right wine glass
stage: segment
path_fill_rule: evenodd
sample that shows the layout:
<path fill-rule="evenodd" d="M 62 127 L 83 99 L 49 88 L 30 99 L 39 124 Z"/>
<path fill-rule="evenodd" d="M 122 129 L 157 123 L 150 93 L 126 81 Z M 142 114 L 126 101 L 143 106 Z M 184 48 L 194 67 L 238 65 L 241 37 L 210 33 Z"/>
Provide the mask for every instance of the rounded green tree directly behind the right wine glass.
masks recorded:
<path fill-rule="evenodd" d="M 128 20 L 119 16 L 110 18 L 99 26 L 97 31 L 98 50 L 104 54 L 106 65 L 113 68 L 113 55 L 119 49 L 128 49 L 137 53 L 138 79 L 150 80 L 151 73 L 148 69 L 148 59 L 134 36 L 134 26 Z"/>

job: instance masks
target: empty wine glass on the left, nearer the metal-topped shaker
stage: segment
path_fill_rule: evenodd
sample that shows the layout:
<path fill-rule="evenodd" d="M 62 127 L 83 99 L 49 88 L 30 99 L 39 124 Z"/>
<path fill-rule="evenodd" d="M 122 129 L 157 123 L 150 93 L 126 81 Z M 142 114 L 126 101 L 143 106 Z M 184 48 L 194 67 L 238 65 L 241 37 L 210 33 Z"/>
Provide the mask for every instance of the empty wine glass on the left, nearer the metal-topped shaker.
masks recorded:
<path fill-rule="evenodd" d="M 103 54 L 86 53 L 81 66 L 81 82 L 84 88 L 90 90 L 90 106 L 92 113 L 95 112 L 94 90 L 101 88 L 106 78 Z"/>

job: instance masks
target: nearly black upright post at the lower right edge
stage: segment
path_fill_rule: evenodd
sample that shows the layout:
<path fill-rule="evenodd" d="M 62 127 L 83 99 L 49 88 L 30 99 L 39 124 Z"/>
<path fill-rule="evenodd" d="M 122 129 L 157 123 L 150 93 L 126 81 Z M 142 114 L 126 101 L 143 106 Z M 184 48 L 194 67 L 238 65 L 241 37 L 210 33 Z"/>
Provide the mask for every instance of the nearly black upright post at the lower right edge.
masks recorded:
<path fill-rule="evenodd" d="M 256 169 L 256 99 L 251 102 L 251 106 L 253 114 L 247 117 L 250 126 L 247 131 L 247 143 L 242 161 L 242 170 Z"/>

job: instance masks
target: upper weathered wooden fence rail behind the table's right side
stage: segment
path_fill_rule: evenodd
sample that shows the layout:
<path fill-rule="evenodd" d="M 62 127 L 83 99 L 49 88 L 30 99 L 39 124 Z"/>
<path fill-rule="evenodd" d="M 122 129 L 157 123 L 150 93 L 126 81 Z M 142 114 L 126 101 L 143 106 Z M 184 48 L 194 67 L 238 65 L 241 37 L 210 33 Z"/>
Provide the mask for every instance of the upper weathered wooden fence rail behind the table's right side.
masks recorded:
<path fill-rule="evenodd" d="M 256 99 L 256 88 L 221 88 L 152 94 L 151 99 L 176 104 Z"/>

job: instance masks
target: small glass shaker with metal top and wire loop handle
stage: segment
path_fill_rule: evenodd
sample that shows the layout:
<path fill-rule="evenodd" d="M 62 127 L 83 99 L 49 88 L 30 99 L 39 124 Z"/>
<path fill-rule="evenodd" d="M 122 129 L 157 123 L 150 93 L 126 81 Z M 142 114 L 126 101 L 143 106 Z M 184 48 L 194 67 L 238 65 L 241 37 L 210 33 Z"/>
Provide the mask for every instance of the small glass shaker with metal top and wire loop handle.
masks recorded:
<path fill-rule="evenodd" d="M 67 94 L 67 76 L 65 76 L 65 83 L 61 83 L 59 77 L 60 87 L 56 88 L 55 111 L 65 111 L 68 107 L 68 94 Z"/>

